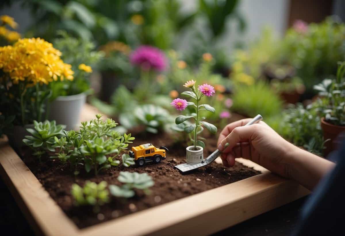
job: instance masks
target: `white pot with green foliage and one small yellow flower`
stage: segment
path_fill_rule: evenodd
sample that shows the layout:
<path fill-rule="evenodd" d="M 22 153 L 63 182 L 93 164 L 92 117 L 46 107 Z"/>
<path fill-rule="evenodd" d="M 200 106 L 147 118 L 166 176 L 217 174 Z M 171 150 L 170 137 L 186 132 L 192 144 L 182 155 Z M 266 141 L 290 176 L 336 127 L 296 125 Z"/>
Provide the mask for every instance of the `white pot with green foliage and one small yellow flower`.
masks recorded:
<path fill-rule="evenodd" d="M 91 93 L 89 76 L 92 68 L 89 65 L 95 65 L 103 52 L 94 51 L 95 45 L 88 40 L 69 37 L 64 31 L 59 35 L 61 38 L 56 39 L 54 45 L 62 52 L 61 58 L 71 64 L 75 74 L 73 80 L 54 81 L 49 85 L 52 96 L 48 117 L 73 129 L 79 122 L 86 96 Z"/>

